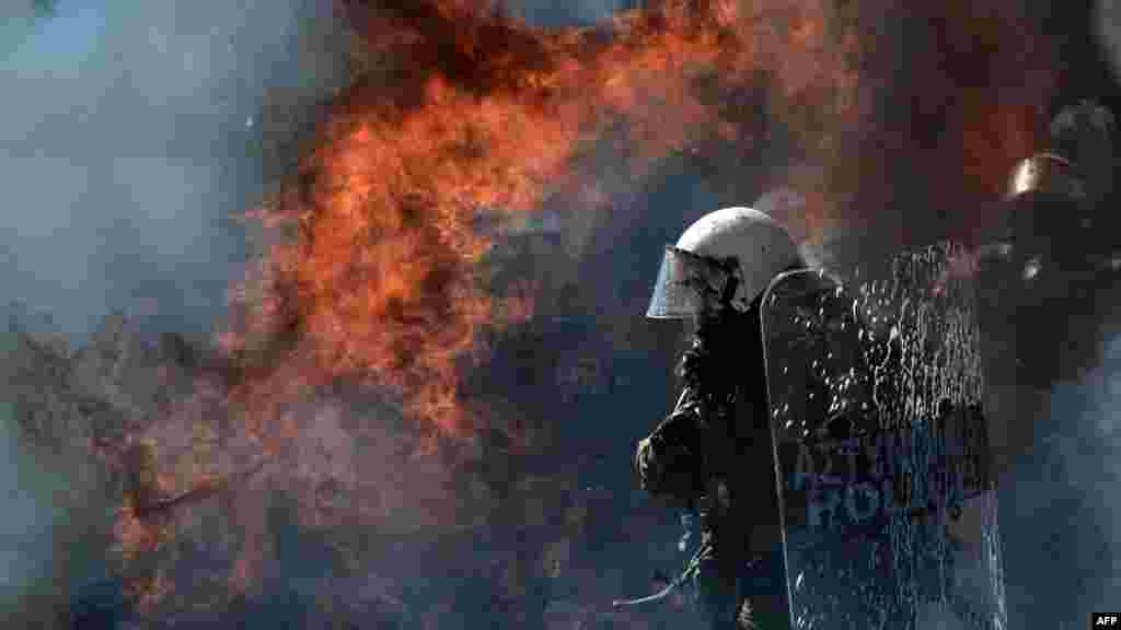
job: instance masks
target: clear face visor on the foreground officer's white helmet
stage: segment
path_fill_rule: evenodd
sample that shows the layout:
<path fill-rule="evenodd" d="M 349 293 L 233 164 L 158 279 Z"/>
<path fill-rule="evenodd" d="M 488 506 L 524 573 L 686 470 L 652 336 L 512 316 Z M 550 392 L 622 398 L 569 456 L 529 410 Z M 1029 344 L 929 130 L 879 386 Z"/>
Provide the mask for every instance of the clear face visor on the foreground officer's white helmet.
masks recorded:
<path fill-rule="evenodd" d="M 685 319 L 729 304 L 739 284 L 734 259 L 716 260 L 666 245 L 646 316 Z"/>

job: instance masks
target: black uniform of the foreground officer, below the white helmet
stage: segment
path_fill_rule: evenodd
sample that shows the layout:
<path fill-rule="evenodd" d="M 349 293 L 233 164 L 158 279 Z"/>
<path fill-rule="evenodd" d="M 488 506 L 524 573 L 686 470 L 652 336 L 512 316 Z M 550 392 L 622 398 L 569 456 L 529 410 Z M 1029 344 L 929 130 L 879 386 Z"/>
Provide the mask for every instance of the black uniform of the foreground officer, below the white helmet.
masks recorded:
<path fill-rule="evenodd" d="M 714 630 L 788 624 L 759 302 L 698 322 L 677 406 L 634 455 L 645 490 L 702 517 L 694 577 Z"/>

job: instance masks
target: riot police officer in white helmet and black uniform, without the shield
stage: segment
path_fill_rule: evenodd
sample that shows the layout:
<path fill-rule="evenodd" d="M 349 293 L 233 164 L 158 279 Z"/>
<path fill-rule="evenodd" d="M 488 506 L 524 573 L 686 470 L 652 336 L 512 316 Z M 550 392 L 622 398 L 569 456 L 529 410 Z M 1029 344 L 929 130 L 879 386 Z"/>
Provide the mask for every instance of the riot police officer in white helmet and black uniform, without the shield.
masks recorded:
<path fill-rule="evenodd" d="M 804 267 L 767 214 L 719 210 L 666 248 L 647 312 L 695 325 L 680 398 L 634 466 L 643 489 L 701 516 L 686 573 L 713 630 L 788 624 L 759 309 L 775 277 Z"/>

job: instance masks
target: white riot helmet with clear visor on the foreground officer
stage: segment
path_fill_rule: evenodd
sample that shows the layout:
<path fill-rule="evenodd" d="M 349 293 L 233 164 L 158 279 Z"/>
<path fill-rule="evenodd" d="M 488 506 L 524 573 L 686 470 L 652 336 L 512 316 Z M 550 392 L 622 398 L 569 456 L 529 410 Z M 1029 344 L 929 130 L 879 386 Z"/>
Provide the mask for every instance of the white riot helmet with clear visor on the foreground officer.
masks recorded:
<path fill-rule="evenodd" d="M 804 266 L 790 234 L 767 214 L 717 210 L 666 247 L 646 316 L 684 319 L 725 304 L 744 313 L 776 276 Z"/>

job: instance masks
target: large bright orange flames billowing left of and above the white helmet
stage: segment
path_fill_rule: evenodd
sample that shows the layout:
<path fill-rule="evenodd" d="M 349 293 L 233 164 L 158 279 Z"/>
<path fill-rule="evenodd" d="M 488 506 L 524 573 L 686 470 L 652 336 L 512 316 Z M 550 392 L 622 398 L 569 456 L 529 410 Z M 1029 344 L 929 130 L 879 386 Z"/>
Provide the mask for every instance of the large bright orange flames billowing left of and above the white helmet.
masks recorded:
<path fill-rule="evenodd" d="M 481 286 L 490 243 L 472 228 L 478 213 L 530 211 L 550 192 L 580 188 L 573 157 L 620 119 L 633 177 L 691 143 L 734 143 L 750 117 L 722 99 L 758 81 L 767 38 L 788 52 L 790 93 L 844 84 L 824 44 L 823 6 L 771 4 L 767 18 L 789 33 L 758 30 L 760 16 L 732 0 L 666 2 L 552 31 L 483 2 L 354 9 L 364 38 L 385 48 L 383 76 L 340 99 L 300 189 L 268 213 L 297 235 L 272 248 L 249 327 L 290 346 L 285 368 L 254 387 L 275 396 L 293 370 L 313 382 L 369 376 L 443 434 L 470 430 L 460 361 L 481 326 L 528 312 L 524 297 Z M 717 89 L 698 89 L 704 77 Z"/>

